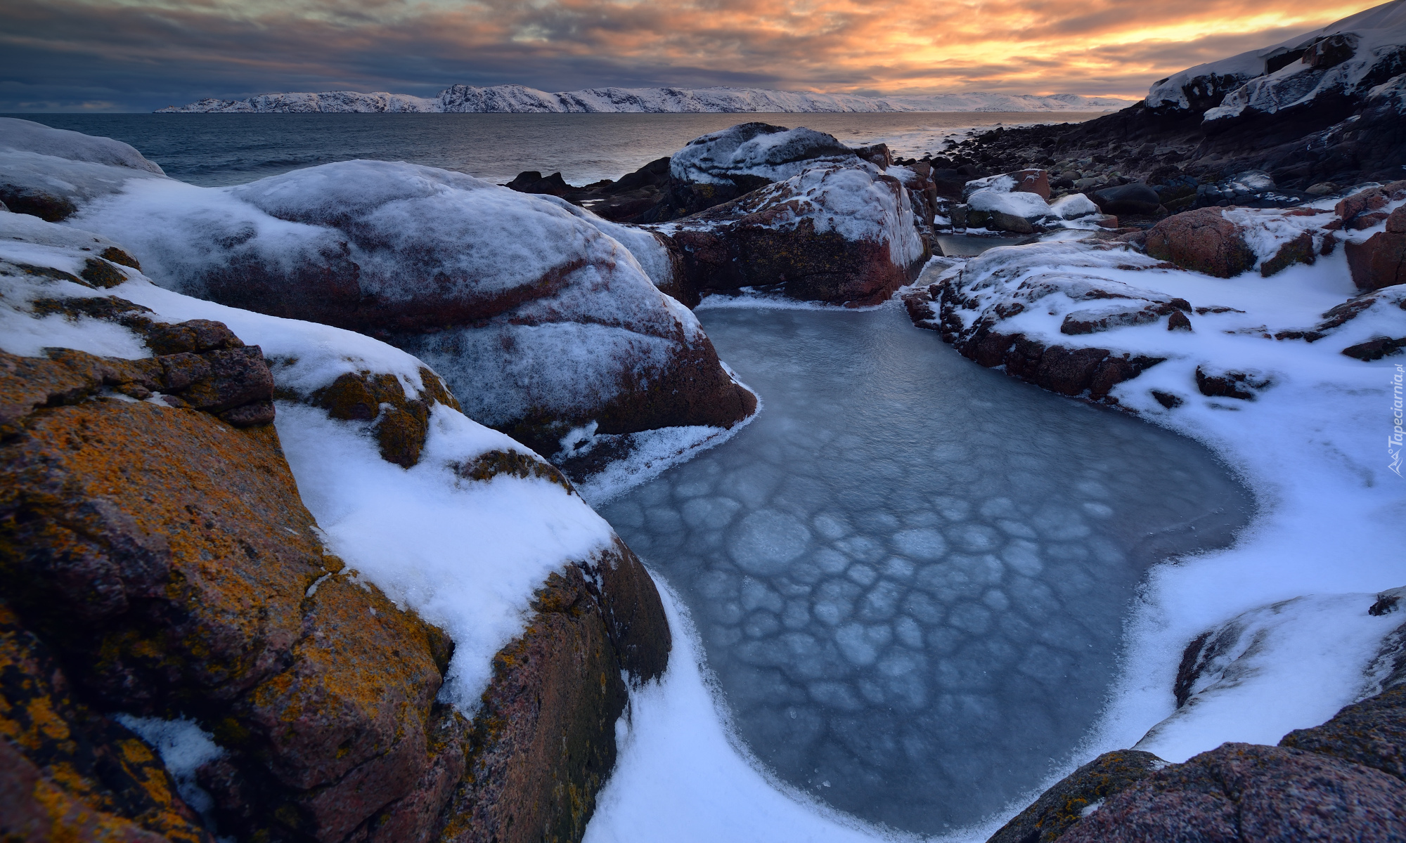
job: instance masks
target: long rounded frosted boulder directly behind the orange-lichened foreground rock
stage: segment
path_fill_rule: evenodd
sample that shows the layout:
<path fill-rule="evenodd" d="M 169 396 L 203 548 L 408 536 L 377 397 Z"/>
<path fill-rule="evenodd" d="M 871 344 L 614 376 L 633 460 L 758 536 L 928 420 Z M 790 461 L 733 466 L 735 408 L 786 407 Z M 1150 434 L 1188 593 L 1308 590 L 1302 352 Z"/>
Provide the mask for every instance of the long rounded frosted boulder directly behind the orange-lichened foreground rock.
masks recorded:
<path fill-rule="evenodd" d="M 6 119 L 0 183 L 76 208 L 69 223 L 120 239 L 170 289 L 406 348 L 543 452 L 589 423 L 723 429 L 755 407 L 693 315 L 558 204 L 388 162 L 200 188 L 125 145 L 132 160 L 91 163 L 111 145 Z"/>

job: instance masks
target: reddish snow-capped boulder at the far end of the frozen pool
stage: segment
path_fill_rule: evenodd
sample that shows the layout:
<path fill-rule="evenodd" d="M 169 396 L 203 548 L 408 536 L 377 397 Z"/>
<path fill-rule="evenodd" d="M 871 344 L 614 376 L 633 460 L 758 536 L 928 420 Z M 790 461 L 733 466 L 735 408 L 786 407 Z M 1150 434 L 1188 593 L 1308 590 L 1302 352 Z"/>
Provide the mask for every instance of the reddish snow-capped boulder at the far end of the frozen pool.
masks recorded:
<path fill-rule="evenodd" d="M 654 230 L 676 244 L 697 291 L 758 287 L 830 303 L 889 298 L 927 254 L 903 184 L 859 160 L 811 166 Z"/>

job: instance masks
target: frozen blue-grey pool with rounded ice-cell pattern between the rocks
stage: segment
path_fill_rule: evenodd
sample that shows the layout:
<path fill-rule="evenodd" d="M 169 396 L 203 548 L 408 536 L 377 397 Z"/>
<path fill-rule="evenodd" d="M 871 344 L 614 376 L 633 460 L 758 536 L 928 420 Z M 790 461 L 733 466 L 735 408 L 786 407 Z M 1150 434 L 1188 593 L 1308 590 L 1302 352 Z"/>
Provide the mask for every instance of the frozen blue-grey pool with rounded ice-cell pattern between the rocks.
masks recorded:
<path fill-rule="evenodd" d="M 1201 445 L 959 357 L 903 311 L 704 309 L 765 409 L 603 507 L 783 780 L 943 832 L 1092 724 L 1149 563 L 1229 541 Z M 1170 693 L 1170 690 L 1168 690 Z"/>

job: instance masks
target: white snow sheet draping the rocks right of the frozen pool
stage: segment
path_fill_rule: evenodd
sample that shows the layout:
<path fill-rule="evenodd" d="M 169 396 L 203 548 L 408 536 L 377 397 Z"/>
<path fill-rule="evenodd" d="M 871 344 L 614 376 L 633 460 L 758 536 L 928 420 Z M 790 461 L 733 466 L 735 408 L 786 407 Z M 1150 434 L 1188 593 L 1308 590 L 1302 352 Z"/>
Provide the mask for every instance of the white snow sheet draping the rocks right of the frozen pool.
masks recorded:
<path fill-rule="evenodd" d="M 1261 254 L 1291 233 L 1274 230 L 1285 223 L 1282 215 L 1243 215 L 1257 229 L 1247 240 Z M 1312 218 L 1288 222 L 1302 219 Z M 1137 743 L 1168 717 L 1174 719 L 1146 747 L 1171 760 L 1225 740 L 1274 743 L 1364 693 L 1360 680 L 1374 636 L 1396 625 L 1367 618 L 1371 600 L 1362 603 L 1364 593 L 1402 579 L 1398 527 L 1406 520 L 1406 483 L 1388 438 L 1403 358 L 1362 362 L 1341 350 L 1406 336 L 1402 291 L 1364 295 L 1358 301 L 1371 299 L 1369 306 L 1334 325 L 1324 322 L 1326 312 L 1357 295 L 1341 249 L 1271 278 L 1246 273 L 1222 280 L 1154 266 L 1123 244 L 1087 242 L 993 249 L 946 270 L 942 281 L 942 296 L 966 302 L 952 311 L 963 332 L 987 319 L 997 332 L 1047 346 L 1164 358 L 1116 385 L 1112 396 L 1212 447 L 1263 507 L 1234 547 L 1152 570 L 1128 627 L 1123 677 L 1084 760 Z M 1192 306 L 1194 330 L 1167 330 L 1164 316 L 1111 320 L 1107 330 L 1078 336 L 1060 330 L 1070 312 L 1085 306 L 1081 299 L 1112 311 L 1171 298 Z M 1326 336 L 1312 343 L 1274 339 L 1315 326 Z M 1206 396 L 1197 385 L 1198 367 L 1249 372 L 1261 388 L 1250 400 Z M 1167 409 L 1154 391 L 1180 406 Z M 1272 608 L 1281 601 L 1292 603 Z M 1182 649 L 1237 615 L 1278 629 L 1241 663 L 1253 681 L 1205 688 L 1202 702 L 1174 714 L 1171 687 Z M 1272 624 L 1264 620 L 1271 617 Z"/>

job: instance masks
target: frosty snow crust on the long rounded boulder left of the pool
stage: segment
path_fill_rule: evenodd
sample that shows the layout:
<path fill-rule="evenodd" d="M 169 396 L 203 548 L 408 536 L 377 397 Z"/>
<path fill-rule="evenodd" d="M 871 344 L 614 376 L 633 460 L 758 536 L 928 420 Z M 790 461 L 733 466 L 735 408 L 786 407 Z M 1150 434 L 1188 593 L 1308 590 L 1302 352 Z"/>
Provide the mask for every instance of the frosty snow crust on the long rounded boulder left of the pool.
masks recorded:
<path fill-rule="evenodd" d="M 434 167 L 353 160 L 238 187 L 139 183 L 72 222 L 127 243 L 152 278 L 191 295 L 208 295 L 202 280 L 242 260 L 288 277 L 332 256 L 359 267 L 363 296 L 392 306 L 426 295 L 430 278 L 436 295 L 488 298 L 560 277 L 554 294 L 524 296 L 486 325 L 402 343 L 489 424 L 600 406 L 620 393 L 621 367 L 661 370 L 703 340 L 697 319 L 654 285 L 672 270 L 652 233 Z"/>

